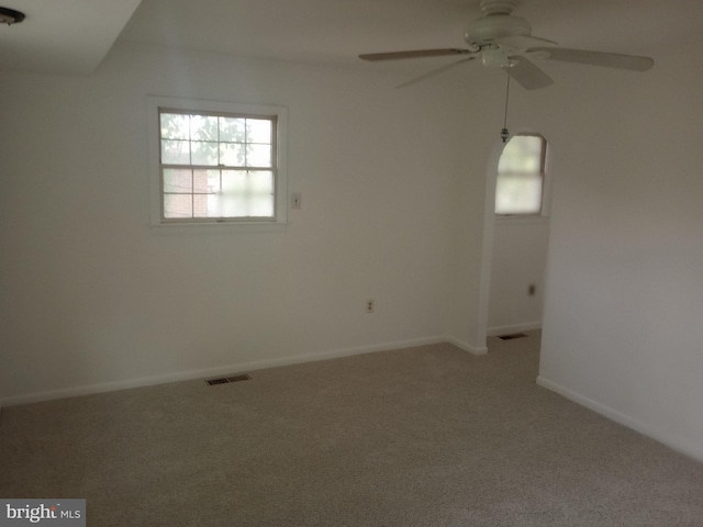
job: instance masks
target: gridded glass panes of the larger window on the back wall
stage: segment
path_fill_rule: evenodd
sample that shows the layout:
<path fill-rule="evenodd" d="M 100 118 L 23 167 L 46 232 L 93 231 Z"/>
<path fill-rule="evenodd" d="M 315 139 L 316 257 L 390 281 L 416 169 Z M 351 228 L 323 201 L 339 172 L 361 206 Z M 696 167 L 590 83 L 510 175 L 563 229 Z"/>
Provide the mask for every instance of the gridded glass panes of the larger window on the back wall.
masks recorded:
<path fill-rule="evenodd" d="M 272 218 L 276 117 L 160 110 L 163 218 Z"/>

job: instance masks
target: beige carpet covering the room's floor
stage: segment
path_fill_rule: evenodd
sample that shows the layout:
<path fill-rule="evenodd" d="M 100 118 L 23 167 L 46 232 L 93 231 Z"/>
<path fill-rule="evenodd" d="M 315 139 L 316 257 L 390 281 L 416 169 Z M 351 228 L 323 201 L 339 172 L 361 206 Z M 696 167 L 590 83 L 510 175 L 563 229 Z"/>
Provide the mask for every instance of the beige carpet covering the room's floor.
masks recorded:
<path fill-rule="evenodd" d="M 1 497 L 98 526 L 703 525 L 703 464 L 535 384 L 538 334 L 4 408 Z"/>

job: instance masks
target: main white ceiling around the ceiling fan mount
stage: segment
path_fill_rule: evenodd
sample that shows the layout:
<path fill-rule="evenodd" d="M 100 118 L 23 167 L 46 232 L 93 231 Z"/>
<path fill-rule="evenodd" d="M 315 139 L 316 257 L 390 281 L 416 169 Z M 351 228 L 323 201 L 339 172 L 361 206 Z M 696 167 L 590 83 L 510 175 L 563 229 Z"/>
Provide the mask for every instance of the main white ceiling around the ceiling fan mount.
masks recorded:
<path fill-rule="evenodd" d="M 284 60 L 464 45 L 477 0 L 143 0 L 130 41 Z M 701 0 L 522 0 L 514 14 L 565 47 L 650 54 L 703 38 Z"/>

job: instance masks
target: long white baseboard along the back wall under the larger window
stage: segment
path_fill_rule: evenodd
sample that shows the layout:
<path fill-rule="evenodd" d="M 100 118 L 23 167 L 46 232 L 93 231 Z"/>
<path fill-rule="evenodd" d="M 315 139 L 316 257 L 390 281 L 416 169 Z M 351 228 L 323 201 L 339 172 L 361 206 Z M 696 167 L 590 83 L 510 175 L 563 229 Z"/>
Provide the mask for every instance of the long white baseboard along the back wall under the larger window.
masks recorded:
<path fill-rule="evenodd" d="M 275 368 L 279 366 L 290 366 L 301 362 L 313 362 L 316 360 L 335 359 L 339 357 L 349 357 L 353 355 L 370 354 L 375 351 L 388 351 L 391 349 L 411 348 L 414 346 L 425 346 L 428 344 L 446 343 L 447 337 L 444 335 L 436 337 L 414 338 L 410 340 L 397 340 L 391 343 L 375 344 L 368 346 L 357 346 L 352 348 L 342 348 L 320 354 L 305 354 L 293 357 L 281 357 L 277 359 L 264 359 L 248 362 L 235 362 L 215 368 L 204 368 L 199 370 L 189 370 L 176 373 L 167 373 L 164 375 L 143 377 L 140 379 L 130 379 L 124 381 L 102 382 L 97 384 L 86 384 L 82 386 L 65 388 L 59 390 L 48 390 L 46 392 L 35 392 L 22 395 L 14 395 L 0 400 L 1 406 L 13 406 L 18 404 L 38 403 L 42 401 L 53 401 L 56 399 L 75 397 L 79 395 L 90 395 L 94 393 L 114 392 L 118 390 L 127 390 L 131 388 L 150 386 L 156 384 L 165 384 L 167 382 L 190 381 L 194 379 L 204 379 L 212 377 L 222 377 L 231 373 L 245 371 L 263 370 L 265 368 Z"/>

